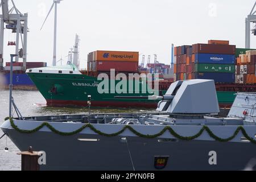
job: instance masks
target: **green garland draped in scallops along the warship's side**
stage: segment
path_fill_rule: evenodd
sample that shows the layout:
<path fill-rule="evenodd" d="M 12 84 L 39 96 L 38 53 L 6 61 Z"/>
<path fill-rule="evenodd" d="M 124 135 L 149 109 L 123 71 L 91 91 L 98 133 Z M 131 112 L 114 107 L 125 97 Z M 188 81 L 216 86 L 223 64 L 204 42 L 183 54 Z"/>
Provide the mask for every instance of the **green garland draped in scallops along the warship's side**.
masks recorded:
<path fill-rule="evenodd" d="M 99 134 L 99 135 L 102 135 L 102 136 L 105 136 L 105 137 L 116 137 L 117 135 L 120 135 L 122 134 L 126 129 L 130 130 L 133 134 L 137 135 L 138 137 L 143 137 L 143 138 L 156 138 L 156 137 L 160 137 L 161 135 L 163 135 L 166 131 L 169 131 L 169 133 L 171 135 L 173 135 L 174 137 L 178 138 L 178 139 L 181 139 L 181 140 L 193 140 L 193 139 L 196 139 L 198 137 L 201 136 L 201 134 L 203 134 L 204 131 L 207 131 L 207 133 L 209 134 L 210 137 L 212 137 L 213 139 L 219 141 L 219 142 L 229 142 L 230 140 L 234 139 L 237 134 L 242 131 L 242 134 L 243 136 L 249 140 L 251 143 L 254 143 L 256 144 L 256 140 L 249 137 L 249 135 L 246 133 L 245 129 L 242 127 L 242 126 L 239 126 L 237 127 L 237 130 L 234 132 L 234 134 L 229 137 L 229 138 L 220 138 L 220 137 L 217 137 L 216 135 L 213 134 L 213 132 L 209 129 L 208 126 L 203 126 L 202 129 L 199 131 L 199 133 L 197 133 L 196 135 L 193 135 L 192 137 L 183 137 L 179 134 L 177 134 L 170 126 L 166 126 L 164 127 L 164 129 L 162 131 L 160 131 L 158 134 L 155 134 L 155 135 L 144 135 L 144 134 L 141 134 L 139 133 L 138 131 L 134 130 L 133 127 L 129 126 L 129 125 L 126 125 L 123 127 L 122 130 L 118 131 L 117 133 L 113 133 L 113 134 L 106 134 L 106 133 L 102 133 L 100 130 L 97 130 L 95 127 L 93 127 L 93 125 L 91 125 L 90 123 L 82 126 L 80 129 L 77 129 L 76 131 L 72 131 L 70 133 L 64 133 L 64 132 L 61 132 L 59 130 L 56 130 L 53 126 L 51 126 L 48 122 L 44 122 L 42 123 L 42 125 L 36 127 L 35 129 L 33 130 L 20 130 L 18 128 L 18 126 L 16 126 L 14 124 L 14 121 L 13 121 L 13 118 L 9 118 L 7 117 L 5 119 L 8 120 L 10 119 L 10 123 L 11 123 L 11 127 L 13 127 L 13 129 L 15 129 L 16 131 L 19 131 L 20 133 L 26 133 L 26 134 L 31 134 L 31 133 L 35 133 L 36 131 L 39 131 L 40 129 L 42 129 L 44 126 L 48 127 L 49 130 L 51 130 L 53 133 L 56 133 L 56 134 L 59 134 L 59 135 L 63 135 L 63 136 L 70 136 L 70 135 L 75 135 L 77 133 L 80 133 L 82 130 L 86 129 L 87 127 L 89 127 L 90 130 L 94 131 L 95 133 Z"/>

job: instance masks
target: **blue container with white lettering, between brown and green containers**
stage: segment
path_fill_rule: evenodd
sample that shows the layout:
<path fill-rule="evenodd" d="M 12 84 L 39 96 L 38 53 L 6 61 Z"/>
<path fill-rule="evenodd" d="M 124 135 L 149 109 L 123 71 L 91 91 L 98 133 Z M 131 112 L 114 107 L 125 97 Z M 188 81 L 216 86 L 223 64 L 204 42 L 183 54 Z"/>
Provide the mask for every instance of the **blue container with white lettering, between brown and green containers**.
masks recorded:
<path fill-rule="evenodd" d="M 209 63 L 209 64 L 235 64 L 235 55 L 216 55 L 209 53 L 196 53 L 195 63 Z"/>

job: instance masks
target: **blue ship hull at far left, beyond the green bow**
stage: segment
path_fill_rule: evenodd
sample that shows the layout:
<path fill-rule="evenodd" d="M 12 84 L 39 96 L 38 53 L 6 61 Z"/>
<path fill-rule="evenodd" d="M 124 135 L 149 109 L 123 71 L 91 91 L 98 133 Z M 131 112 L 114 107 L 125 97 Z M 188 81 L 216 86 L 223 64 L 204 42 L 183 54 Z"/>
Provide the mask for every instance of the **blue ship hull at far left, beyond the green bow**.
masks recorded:
<path fill-rule="evenodd" d="M 10 84 L 10 73 L 5 73 L 5 84 Z M 26 73 L 13 73 L 13 85 L 34 85 L 34 83 Z"/>

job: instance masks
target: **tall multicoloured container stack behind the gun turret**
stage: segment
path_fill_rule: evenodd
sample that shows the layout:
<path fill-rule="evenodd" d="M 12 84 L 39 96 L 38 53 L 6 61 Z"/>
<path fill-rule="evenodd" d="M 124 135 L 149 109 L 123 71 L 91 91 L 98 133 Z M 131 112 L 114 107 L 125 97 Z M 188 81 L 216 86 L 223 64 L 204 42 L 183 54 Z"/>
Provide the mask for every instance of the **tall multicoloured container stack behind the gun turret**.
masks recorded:
<path fill-rule="evenodd" d="M 230 46 L 228 41 L 223 40 L 209 40 L 208 44 L 193 44 L 192 53 L 187 53 L 186 79 L 210 79 L 220 83 L 235 82 L 235 51 L 236 46 Z M 179 77 L 178 64 L 178 56 L 176 56 L 176 80 L 186 80 L 184 77 Z"/>

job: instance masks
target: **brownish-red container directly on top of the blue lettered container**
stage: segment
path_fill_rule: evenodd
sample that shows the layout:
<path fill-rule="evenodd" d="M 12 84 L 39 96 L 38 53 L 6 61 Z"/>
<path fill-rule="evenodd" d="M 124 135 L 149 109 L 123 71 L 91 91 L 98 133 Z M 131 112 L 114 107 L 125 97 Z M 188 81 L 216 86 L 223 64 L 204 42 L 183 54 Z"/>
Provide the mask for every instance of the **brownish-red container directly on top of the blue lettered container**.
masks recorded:
<path fill-rule="evenodd" d="M 192 53 L 214 53 L 234 55 L 236 46 L 218 44 L 193 44 Z"/>

